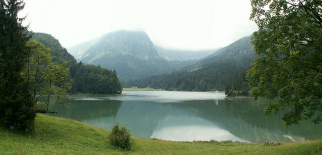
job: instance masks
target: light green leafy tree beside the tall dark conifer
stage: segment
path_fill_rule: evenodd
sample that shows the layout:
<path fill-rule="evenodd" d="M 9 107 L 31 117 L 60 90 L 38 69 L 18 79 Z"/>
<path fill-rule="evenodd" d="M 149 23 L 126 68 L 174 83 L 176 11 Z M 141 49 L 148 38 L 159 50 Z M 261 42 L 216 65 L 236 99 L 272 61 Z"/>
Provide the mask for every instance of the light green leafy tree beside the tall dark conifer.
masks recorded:
<path fill-rule="evenodd" d="M 36 112 L 50 112 L 48 106 L 51 96 L 57 97 L 56 103 L 66 105 L 60 101 L 68 98 L 67 90 L 70 89 L 67 81 L 68 68 L 65 67 L 67 62 L 61 65 L 52 63 L 51 50 L 35 40 L 27 42 L 27 48 L 31 49 L 32 56 L 22 75 L 30 82 L 29 89 L 33 94 Z M 36 98 L 36 95 L 39 97 Z M 42 104 L 45 101 L 47 108 Z"/>

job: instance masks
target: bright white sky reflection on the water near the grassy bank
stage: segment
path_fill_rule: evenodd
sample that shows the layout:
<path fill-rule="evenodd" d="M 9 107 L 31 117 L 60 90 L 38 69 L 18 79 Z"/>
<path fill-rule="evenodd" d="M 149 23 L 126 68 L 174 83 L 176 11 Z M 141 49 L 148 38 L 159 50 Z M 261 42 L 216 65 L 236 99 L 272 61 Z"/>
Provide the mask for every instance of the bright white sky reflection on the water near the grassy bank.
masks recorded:
<path fill-rule="evenodd" d="M 193 140 L 233 140 L 249 142 L 240 139 L 227 130 L 198 117 L 187 116 L 167 116 L 160 120 L 155 127 L 150 138 L 176 141 L 193 141 Z"/>

